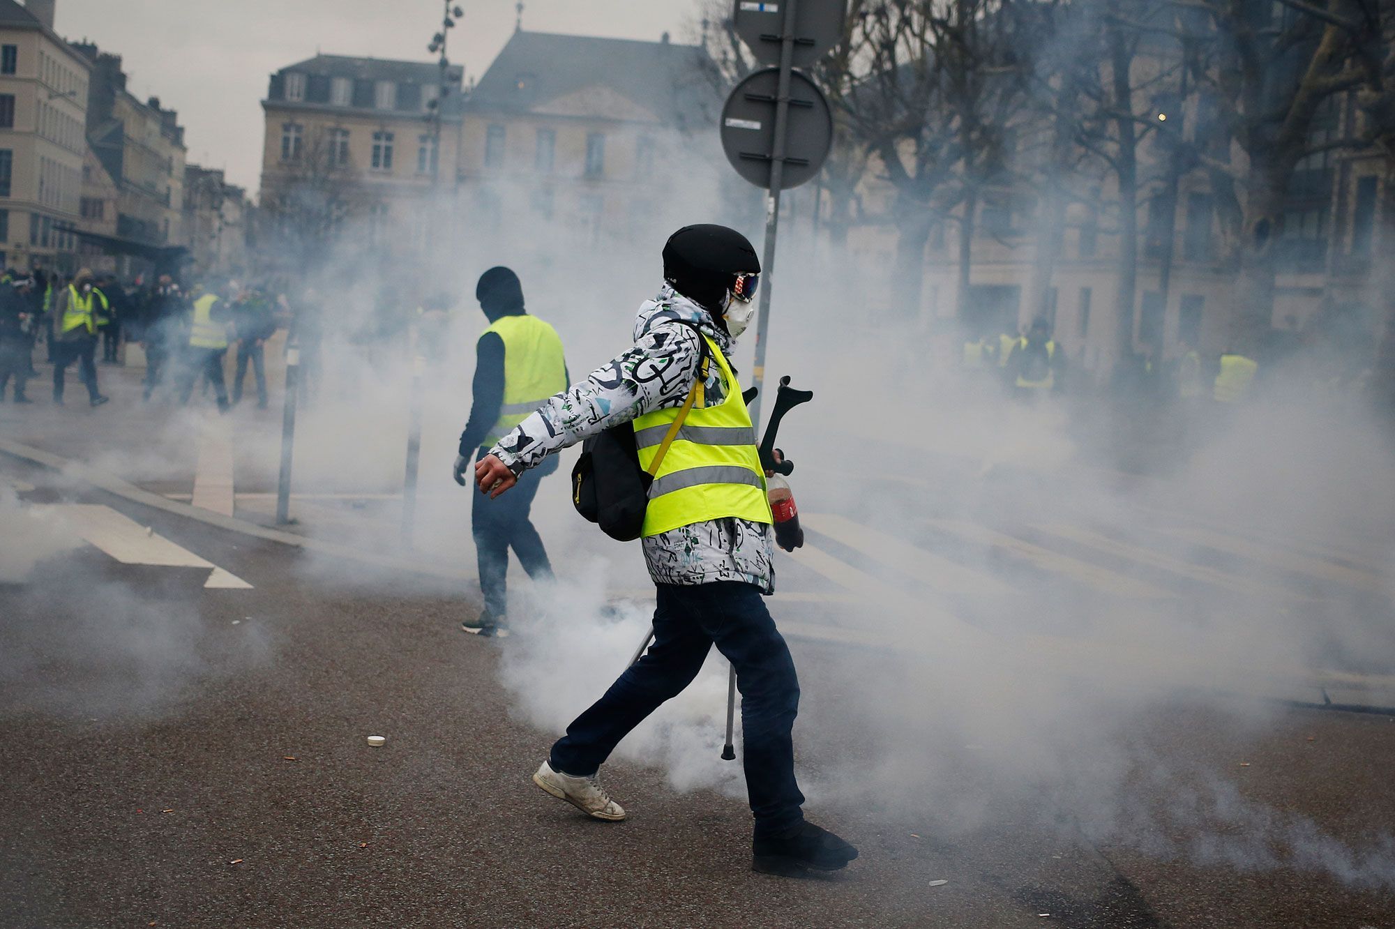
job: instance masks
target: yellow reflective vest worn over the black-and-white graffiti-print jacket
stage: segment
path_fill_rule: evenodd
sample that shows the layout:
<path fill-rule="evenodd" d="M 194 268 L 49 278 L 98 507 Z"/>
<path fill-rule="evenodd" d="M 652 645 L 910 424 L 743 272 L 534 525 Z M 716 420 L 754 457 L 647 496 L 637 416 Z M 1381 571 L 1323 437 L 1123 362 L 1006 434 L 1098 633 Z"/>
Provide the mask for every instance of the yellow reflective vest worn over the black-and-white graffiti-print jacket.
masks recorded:
<path fill-rule="evenodd" d="M 688 411 L 649 488 L 642 529 L 646 537 L 711 519 L 774 522 L 766 498 L 766 473 L 756 451 L 756 430 L 751 425 L 741 384 L 717 345 L 706 335 L 703 340 L 721 367 L 727 399 L 703 407 L 699 386 L 699 402 Z M 698 377 L 703 375 L 699 372 Z M 635 420 L 640 467 L 649 470 L 653 464 L 664 435 L 677 418 L 677 409 L 665 409 Z"/>

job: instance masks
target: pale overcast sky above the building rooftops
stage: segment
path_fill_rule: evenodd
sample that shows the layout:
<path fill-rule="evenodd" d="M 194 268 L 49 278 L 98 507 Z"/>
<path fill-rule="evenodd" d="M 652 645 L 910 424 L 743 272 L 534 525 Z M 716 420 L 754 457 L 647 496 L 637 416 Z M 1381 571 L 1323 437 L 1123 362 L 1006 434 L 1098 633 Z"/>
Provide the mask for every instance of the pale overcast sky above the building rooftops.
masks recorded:
<path fill-rule="evenodd" d="M 513 32 L 513 0 L 456 0 L 451 61 L 478 77 Z M 428 61 L 439 0 L 57 0 L 57 31 L 120 54 L 127 86 L 179 110 L 188 160 L 255 195 L 272 71 L 325 54 Z M 527 0 L 523 28 L 657 40 L 691 38 L 696 0 Z"/>

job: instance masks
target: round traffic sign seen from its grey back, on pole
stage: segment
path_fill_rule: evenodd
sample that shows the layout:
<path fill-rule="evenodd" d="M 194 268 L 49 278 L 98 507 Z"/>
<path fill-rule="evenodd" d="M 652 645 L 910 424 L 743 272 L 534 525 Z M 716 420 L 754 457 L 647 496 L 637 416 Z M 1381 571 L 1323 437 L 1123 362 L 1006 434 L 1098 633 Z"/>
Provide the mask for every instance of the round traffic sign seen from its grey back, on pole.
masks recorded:
<path fill-rule="evenodd" d="M 770 187 L 776 149 L 776 93 L 780 68 L 763 68 L 732 88 L 721 107 L 721 148 L 727 160 L 756 187 Z M 790 116 L 780 188 L 798 187 L 823 167 L 833 142 L 833 114 L 813 81 L 790 73 Z"/>

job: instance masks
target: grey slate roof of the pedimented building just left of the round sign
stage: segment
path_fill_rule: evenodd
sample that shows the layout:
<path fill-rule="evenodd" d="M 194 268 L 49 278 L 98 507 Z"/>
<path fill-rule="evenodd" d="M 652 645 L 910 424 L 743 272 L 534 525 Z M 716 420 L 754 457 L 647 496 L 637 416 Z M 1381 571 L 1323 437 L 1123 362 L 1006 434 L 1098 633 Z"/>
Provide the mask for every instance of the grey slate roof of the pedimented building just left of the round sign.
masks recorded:
<path fill-rule="evenodd" d="M 474 91 L 469 110 L 526 112 L 601 85 L 664 121 L 711 119 L 720 107 L 699 46 L 548 32 L 515 32 Z"/>

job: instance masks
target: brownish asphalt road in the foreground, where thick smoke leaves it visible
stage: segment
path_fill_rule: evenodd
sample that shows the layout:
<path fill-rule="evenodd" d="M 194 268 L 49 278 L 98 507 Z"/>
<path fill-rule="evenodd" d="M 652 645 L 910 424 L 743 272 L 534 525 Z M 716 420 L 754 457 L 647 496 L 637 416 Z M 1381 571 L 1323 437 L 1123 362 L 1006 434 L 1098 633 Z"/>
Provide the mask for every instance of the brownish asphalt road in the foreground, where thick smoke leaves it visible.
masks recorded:
<path fill-rule="evenodd" d="M 326 572 L 0 473 L 35 484 L 29 502 L 110 505 L 254 584 L 205 590 L 206 571 L 81 548 L 0 586 L 3 926 L 1395 926 L 1378 873 L 1395 858 L 1374 854 L 1395 830 L 1387 716 L 1149 706 L 1124 724 L 1131 805 L 1109 824 L 1045 759 L 1024 788 L 975 745 L 917 746 L 940 781 L 918 802 L 829 787 L 859 770 L 880 784 L 905 757 L 851 697 L 915 658 L 795 640 L 806 812 L 862 858 L 790 882 L 749 870 L 741 799 L 657 767 L 607 766 L 619 824 L 538 791 L 555 734 L 499 685 L 519 640 L 456 629 L 474 591 Z M 1230 841 L 1256 816 L 1257 841 Z M 1306 826 L 1275 826 L 1290 822 Z"/>

